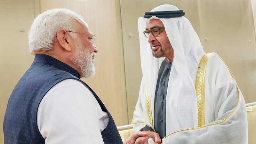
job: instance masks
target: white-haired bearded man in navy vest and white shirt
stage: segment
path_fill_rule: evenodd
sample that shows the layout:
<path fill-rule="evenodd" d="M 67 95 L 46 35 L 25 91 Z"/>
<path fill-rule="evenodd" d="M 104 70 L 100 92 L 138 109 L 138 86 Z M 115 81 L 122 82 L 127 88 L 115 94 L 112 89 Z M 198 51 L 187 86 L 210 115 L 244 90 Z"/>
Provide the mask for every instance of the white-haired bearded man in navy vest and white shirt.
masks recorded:
<path fill-rule="evenodd" d="M 36 17 L 29 31 L 35 60 L 8 101 L 4 143 L 122 143 L 108 110 L 80 80 L 95 73 L 95 37 L 76 12 L 52 9 Z"/>

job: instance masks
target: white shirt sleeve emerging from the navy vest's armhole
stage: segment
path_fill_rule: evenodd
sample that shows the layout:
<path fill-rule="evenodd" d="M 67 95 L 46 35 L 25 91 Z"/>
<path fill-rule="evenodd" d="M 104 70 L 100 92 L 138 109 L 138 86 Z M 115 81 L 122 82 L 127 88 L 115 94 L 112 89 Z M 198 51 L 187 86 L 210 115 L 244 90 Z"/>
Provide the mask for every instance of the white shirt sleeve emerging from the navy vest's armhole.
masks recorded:
<path fill-rule="evenodd" d="M 79 81 L 64 80 L 46 93 L 38 108 L 45 143 L 104 143 L 94 96 Z"/>

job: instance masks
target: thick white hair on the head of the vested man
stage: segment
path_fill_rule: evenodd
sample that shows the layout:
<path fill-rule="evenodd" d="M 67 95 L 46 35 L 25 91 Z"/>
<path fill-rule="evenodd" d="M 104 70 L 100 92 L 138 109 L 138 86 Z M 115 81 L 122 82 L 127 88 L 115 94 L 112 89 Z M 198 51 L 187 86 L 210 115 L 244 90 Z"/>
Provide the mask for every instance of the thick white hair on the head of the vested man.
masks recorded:
<path fill-rule="evenodd" d="M 33 21 L 29 33 L 29 50 L 32 54 L 36 51 L 50 51 L 53 49 L 53 40 L 60 29 L 75 31 L 78 26 L 76 21 L 87 24 L 83 17 L 76 12 L 64 8 L 47 10 L 39 14 Z M 76 35 L 70 33 L 75 38 Z"/>

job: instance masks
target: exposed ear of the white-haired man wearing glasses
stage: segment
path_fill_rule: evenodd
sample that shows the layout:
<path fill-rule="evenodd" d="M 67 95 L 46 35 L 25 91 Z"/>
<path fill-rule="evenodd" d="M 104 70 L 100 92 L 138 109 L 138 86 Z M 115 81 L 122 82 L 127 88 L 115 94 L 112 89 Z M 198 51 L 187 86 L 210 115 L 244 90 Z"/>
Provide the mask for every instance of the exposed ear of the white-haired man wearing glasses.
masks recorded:
<path fill-rule="evenodd" d="M 64 48 L 66 51 L 71 51 L 70 42 L 73 40 L 73 38 L 68 34 L 68 32 L 66 32 L 64 29 L 60 29 L 57 32 L 57 39 L 62 48 Z"/>

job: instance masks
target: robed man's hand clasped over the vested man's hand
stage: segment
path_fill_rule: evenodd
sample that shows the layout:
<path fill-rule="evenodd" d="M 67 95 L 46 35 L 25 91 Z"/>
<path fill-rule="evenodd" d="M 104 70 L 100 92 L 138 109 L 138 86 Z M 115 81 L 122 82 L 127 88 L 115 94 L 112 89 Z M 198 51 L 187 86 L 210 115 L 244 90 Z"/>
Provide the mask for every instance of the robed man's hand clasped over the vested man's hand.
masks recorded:
<path fill-rule="evenodd" d="M 154 144 L 160 144 L 161 143 L 161 139 L 159 137 L 159 134 L 156 132 L 152 132 L 152 131 L 141 131 L 143 133 L 147 133 L 147 136 L 144 137 L 138 137 L 135 141 L 135 144 L 148 144 L 148 139 L 152 138 L 154 139 L 155 143 Z"/>

